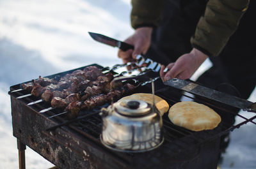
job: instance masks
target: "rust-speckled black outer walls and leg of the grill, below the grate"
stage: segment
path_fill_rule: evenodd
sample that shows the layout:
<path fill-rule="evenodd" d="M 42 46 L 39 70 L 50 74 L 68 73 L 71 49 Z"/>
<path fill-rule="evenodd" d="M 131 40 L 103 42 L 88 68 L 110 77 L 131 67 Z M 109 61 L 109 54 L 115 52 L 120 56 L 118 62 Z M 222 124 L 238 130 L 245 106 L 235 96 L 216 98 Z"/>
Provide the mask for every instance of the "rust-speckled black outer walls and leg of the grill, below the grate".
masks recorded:
<path fill-rule="evenodd" d="M 215 141 L 215 143 L 208 142 L 200 145 L 198 148 L 188 151 L 188 153 L 182 151 L 172 153 L 172 149 L 164 148 L 173 145 L 173 150 L 177 150 L 175 146 L 182 142 L 163 143 L 156 151 L 132 155 L 131 161 L 130 158 L 127 159 L 127 155 L 124 156 L 120 152 L 109 151 L 102 145 L 97 145 L 97 142 L 92 141 L 93 139 L 84 138 L 79 133 L 70 131 L 68 126 L 45 132 L 45 129 L 56 126 L 58 123 L 47 119 L 42 114 L 38 114 L 36 110 L 31 110 L 31 107 L 24 106 L 22 101 L 13 96 L 11 96 L 11 102 L 13 135 L 18 140 L 20 169 L 25 168 L 24 150 L 26 145 L 58 168 L 138 169 L 142 166 L 145 166 L 145 168 L 191 168 L 191 166 L 195 166 L 195 168 L 201 168 L 201 166 L 212 166 L 211 169 L 216 168 L 214 165 L 218 161 L 218 156 L 215 155 L 218 154 L 218 143 Z M 205 151 L 206 149 L 207 151 Z M 152 158 L 154 157 L 152 154 L 162 156 L 161 161 Z M 166 155 L 163 156 L 163 154 Z M 173 154 L 177 154 L 177 156 L 173 156 Z M 206 156 L 208 157 L 205 158 Z M 150 159 L 152 164 L 148 163 Z"/>

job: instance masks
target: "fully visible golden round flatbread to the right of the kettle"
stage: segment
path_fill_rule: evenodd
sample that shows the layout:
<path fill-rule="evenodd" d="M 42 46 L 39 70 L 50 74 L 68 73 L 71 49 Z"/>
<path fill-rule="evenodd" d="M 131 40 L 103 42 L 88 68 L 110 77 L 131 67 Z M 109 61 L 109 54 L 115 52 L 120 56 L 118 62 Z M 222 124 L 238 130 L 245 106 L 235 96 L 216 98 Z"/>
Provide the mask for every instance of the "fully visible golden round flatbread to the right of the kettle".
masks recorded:
<path fill-rule="evenodd" d="M 221 122 L 214 110 L 194 101 L 176 103 L 170 108 L 168 117 L 173 124 L 192 131 L 214 129 Z"/>

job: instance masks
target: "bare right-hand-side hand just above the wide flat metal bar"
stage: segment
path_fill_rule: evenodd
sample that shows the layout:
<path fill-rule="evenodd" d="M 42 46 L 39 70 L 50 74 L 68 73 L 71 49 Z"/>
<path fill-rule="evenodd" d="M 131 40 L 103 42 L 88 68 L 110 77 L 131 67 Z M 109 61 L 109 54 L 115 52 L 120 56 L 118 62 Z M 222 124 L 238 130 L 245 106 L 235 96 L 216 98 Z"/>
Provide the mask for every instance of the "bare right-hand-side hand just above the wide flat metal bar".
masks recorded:
<path fill-rule="evenodd" d="M 189 54 L 181 55 L 176 62 L 168 64 L 166 66 L 168 68 L 166 73 L 163 72 L 165 67 L 162 66 L 160 76 L 163 81 L 170 80 L 171 78 L 190 78 L 207 57 L 200 50 L 193 48 Z"/>

